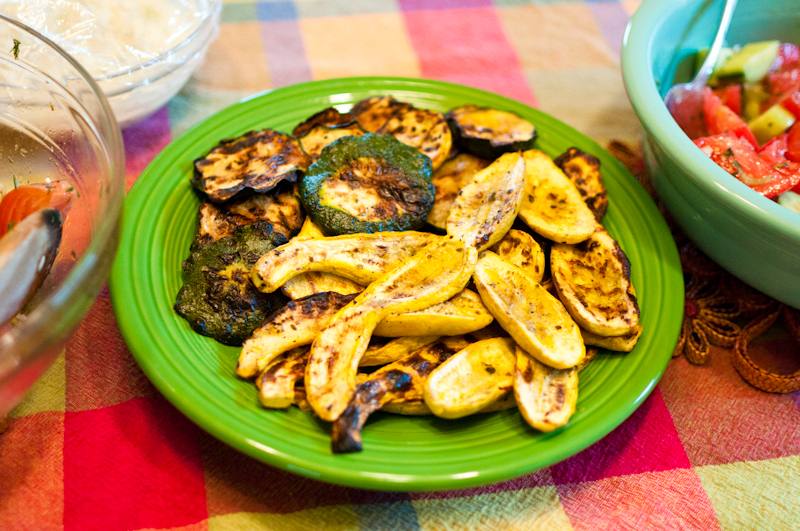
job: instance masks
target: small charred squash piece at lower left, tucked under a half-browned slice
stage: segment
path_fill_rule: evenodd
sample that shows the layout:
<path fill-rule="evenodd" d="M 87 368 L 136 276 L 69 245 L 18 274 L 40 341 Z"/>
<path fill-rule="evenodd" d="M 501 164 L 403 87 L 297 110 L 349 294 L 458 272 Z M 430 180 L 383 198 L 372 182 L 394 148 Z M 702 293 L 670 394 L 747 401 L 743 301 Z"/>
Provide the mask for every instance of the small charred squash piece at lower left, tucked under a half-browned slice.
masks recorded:
<path fill-rule="evenodd" d="M 270 409 L 285 409 L 295 401 L 295 385 L 306 372 L 309 347 L 297 347 L 272 360 L 256 378 L 258 399 Z"/>

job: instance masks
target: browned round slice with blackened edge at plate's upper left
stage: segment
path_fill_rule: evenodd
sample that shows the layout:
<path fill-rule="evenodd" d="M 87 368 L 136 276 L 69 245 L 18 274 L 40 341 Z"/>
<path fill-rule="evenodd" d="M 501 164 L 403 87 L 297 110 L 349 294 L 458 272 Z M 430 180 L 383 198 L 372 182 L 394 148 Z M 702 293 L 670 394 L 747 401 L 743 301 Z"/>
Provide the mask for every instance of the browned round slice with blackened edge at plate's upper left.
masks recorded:
<path fill-rule="evenodd" d="M 222 140 L 195 159 L 192 184 L 208 199 L 222 203 L 243 190 L 267 192 L 282 181 L 295 182 L 311 158 L 285 133 L 264 129 Z"/>

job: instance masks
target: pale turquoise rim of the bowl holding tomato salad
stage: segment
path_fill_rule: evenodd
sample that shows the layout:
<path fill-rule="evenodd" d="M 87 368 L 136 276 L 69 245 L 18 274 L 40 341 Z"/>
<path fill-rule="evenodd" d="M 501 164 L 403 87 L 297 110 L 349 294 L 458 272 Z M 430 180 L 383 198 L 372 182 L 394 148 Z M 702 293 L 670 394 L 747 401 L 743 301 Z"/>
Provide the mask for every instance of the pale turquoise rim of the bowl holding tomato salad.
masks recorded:
<path fill-rule="evenodd" d="M 664 105 L 651 66 L 652 37 L 671 13 L 694 1 L 643 0 L 633 14 L 625 28 L 621 54 L 628 98 L 648 136 L 661 144 L 703 193 L 731 206 L 748 220 L 797 238 L 800 215 L 767 199 L 717 166 L 684 134 Z"/>

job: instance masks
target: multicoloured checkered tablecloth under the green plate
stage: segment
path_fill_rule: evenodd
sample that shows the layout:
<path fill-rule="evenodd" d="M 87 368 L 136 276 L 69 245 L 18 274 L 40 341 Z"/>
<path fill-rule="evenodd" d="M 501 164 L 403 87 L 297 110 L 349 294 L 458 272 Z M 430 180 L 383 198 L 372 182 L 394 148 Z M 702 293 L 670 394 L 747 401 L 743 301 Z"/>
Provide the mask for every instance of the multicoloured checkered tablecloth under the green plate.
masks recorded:
<path fill-rule="evenodd" d="M 600 144 L 635 143 L 619 52 L 637 4 L 226 0 L 204 66 L 124 131 L 128 184 L 242 97 L 342 76 L 471 85 Z M 755 348 L 798 357 L 781 333 Z M 0 529 L 800 529 L 800 392 L 758 391 L 729 357 L 674 359 L 627 421 L 550 468 L 461 491 L 372 492 L 263 465 L 192 424 L 138 368 L 104 291 L 0 435 Z"/>

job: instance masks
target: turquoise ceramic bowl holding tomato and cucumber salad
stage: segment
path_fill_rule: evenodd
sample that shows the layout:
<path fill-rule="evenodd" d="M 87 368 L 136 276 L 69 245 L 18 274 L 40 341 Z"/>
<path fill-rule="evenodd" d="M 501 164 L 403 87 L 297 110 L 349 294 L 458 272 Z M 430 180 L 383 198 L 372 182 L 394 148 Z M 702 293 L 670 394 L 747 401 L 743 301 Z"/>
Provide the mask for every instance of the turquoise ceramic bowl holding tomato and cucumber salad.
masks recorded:
<path fill-rule="evenodd" d="M 644 0 L 622 48 L 628 97 L 644 127 L 645 162 L 675 221 L 722 267 L 800 308 L 800 214 L 762 197 L 694 146 L 663 103 L 689 81 L 695 52 L 708 47 L 722 0 Z M 729 44 L 779 39 L 800 44 L 798 0 L 739 0 Z"/>

